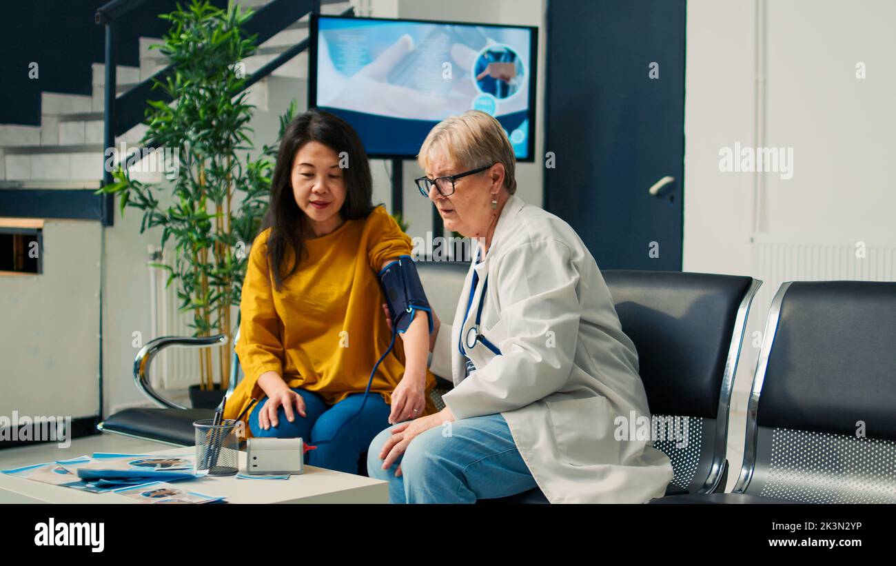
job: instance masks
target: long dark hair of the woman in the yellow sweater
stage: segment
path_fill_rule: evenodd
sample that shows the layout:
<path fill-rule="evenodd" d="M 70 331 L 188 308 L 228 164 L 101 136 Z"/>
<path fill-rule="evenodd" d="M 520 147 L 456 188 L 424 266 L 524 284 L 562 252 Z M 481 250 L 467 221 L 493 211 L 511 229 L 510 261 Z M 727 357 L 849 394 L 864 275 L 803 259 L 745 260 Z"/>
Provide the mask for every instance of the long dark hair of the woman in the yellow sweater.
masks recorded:
<path fill-rule="evenodd" d="M 340 154 L 345 151 L 349 167 L 345 176 L 345 202 L 339 213 L 344 220 L 366 219 L 374 210 L 373 180 L 370 164 L 361 138 L 348 122 L 329 112 L 311 108 L 297 116 L 283 131 L 277 165 L 271 180 L 271 204 L 264 215 L 261 230 L 271 228 L 268 236 L 267 261 L 277 290 L 283 281 L 296 272 L 306 255 L 305 230 L 308 217 L 298 208 L 292 191 L 292 166 L 296 153 L 307 142 L 319 142 Z M 341 159 L 342 156 L 340 156 Z M 284 266 L 287 253 L 293 254 L 293 262 Z"/>

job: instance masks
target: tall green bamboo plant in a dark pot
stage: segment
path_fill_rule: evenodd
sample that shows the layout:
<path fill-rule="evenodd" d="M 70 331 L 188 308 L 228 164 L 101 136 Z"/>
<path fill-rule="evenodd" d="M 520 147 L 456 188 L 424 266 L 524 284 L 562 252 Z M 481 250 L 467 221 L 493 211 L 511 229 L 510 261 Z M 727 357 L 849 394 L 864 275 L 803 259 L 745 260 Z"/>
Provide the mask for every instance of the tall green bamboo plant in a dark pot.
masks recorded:
<path fill-rule="evenodd" d="M 194 0 L 159 16 L 171 29 L 153 47 L 168 56 L 175 73 L 156 80 L 153 89 L 175 102 L 149 102 L 142 143 L 154 140 L 158 147 L 177 149 L 177 176 L 167 184 L 142 183 L 119 166 L 113 182 L 98 191 L 119 195 L 122 215 L 126 206 L 142 210 L 141 233 L 161 228 L 161 247 L 173 244 L 174 261 L 151 265 L 168 271 L 166 286 L 177 283 L 180 311 L 193 313 L 194 337 L 224 334 L 228 344 L 235 330 L 231 306 L 239 304 L 246 248 L 268 207 L 277 151 L 276 145 L 264 145 L 257 159 L 250 157 L 254 106 L 246 102 L 246 91 L 234 95 L 246 81 L 241 61 L 256 48 L 257 36 L 243 37 L 251 15 L 232 2 L 221 10 L 208 0 Z M 293 102 L 280 117 L 280 136 L 295 111 Z M 163 205 L 159 197 L 168 191 L 170 204 Z M 211 348 L 197 352 L 200 375 L 191 400 L 194 407 L 216 407 L 228 388 L 228 348 L 216 352 L 217 379 Z"/>

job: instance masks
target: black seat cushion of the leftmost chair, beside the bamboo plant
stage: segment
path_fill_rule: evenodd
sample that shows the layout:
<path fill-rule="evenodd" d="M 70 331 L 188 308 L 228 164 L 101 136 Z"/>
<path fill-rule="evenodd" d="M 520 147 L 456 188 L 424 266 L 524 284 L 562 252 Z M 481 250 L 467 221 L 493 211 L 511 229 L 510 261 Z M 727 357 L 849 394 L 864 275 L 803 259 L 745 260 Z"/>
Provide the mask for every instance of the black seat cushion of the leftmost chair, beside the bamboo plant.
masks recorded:
<path fill-rule="evenodd" d="M 194 421 L 212 418 L 215 412 L 205 408 L 125 408 L 103 421 L 104 431 L 138 436 L 181 446 L 194 446 Z"/>

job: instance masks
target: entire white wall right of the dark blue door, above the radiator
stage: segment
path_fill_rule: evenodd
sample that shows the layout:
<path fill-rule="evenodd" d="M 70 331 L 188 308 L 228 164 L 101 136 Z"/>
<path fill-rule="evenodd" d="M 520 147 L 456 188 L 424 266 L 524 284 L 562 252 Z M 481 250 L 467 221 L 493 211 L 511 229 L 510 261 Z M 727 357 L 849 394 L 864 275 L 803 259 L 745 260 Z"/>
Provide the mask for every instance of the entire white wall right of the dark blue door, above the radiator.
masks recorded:
<path fill-rule="evenodd" d="M 764 2 L 764 141 L 757 141 L 757 1 L 687 4 L 684 270 L 768 281 L 755 267 L 754 236 L 896 245 L 896 3 Z M 866 64 L 864 80 L 857 62 Z M 793 177 L 719 172 L 719 150 L 735 142 L 792 148 Z M 774 290 L 754 303 L 751 332 L 762 329 Z M 740 410 L 757 354 L 749 335 L 735 383 Z"/>

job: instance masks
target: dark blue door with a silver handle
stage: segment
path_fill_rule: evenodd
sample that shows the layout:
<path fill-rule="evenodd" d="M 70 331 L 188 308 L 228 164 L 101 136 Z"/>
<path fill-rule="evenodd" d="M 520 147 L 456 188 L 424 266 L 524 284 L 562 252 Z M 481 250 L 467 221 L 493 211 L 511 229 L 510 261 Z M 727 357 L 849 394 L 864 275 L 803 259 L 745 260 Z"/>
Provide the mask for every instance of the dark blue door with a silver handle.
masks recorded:
<path fill-rule="evenodd" d="M 681 270 L 685 0 L 548 0 L 545 116 L 545 208 L 601 269 Z"/>

